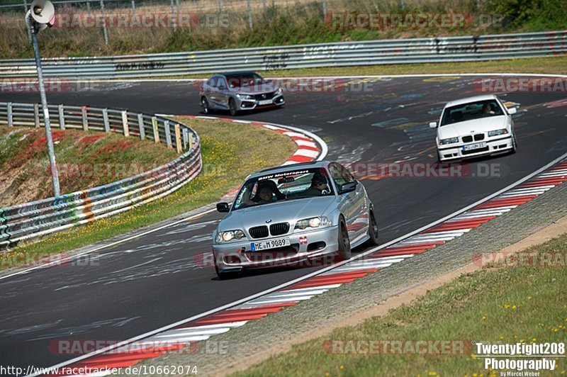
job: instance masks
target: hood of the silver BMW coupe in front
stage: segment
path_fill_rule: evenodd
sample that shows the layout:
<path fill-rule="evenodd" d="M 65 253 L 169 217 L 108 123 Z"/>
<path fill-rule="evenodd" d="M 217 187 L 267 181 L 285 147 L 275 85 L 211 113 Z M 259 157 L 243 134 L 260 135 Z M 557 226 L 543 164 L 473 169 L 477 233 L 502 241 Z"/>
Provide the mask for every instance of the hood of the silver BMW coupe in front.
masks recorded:
<path fill-rule="evenodd" d="M 290 223 L 293 226 L 297 220 L 323 215 L 331 203 L 338 200 L 336 196 L 319 196 L 242 208 L 231 211 L 219 223 L 218 230 L 248 229 L 266 225 L 266 220 L 271 220 L 270 224 Z"/>

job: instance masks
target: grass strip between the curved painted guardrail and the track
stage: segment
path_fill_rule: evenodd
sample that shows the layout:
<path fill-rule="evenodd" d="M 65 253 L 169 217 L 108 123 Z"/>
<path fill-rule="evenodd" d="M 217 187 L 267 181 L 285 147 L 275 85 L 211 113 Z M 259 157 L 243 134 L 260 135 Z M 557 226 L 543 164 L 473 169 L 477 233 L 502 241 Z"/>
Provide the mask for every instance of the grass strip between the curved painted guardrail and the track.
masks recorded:
<path fill-rule="evenodd" d="M 19 245 L 0 254 L 0 269 L 106 240 L 218 201 L 252 171 L 282 164 L 296 150 L 296 144 L 290 138 L 256 125 L 176 119 L 190 125 L 201 137 L 203 172 L 196 179 L 169 196 L 116 217 L 56 233 L 41 242 Z"/>

